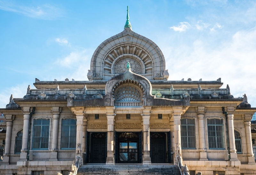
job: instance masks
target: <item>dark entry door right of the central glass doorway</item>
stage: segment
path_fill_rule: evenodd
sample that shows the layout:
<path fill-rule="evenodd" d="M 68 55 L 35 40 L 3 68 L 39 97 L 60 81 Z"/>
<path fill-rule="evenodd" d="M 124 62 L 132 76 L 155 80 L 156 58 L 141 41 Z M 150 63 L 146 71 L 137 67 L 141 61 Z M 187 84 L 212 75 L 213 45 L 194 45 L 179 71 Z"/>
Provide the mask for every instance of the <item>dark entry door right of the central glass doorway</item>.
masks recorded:
<path fill-rule="evenodd" d="M 151 137 L 150 139 L 151 139 L 150 140 L 151 163 L 165 163 L 165 152 L 166 152 L 165 138 Z"/>

